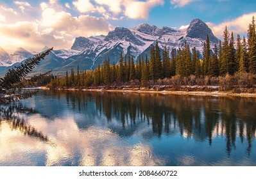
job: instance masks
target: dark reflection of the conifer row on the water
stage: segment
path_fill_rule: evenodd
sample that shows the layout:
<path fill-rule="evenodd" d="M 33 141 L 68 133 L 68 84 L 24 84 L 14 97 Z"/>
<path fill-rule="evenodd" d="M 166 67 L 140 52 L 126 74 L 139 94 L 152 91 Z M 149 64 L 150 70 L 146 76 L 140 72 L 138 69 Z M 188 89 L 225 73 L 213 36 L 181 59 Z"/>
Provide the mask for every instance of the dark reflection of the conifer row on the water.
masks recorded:
<path fill-rule="evenodd" d="M 248 111 L 255 111 L 255 98 L 88 91 L 69 91 L 66 95 L 74 109 L 83 110 L 86 108 L 83 102 L 92 103 L 97 113 L 105 116 L 108 122 L 119 121 L 123 130 L 147 123 L 158 137 L 178 130 L 183 137 L 208 140 L 209 145 L 214 143 L 214 137 L 224 136 L 228 155 L 235 150 L 239 137 L 242 143 L 247 139 L 248 155 L 252 150 L 256 121 Z"/>

